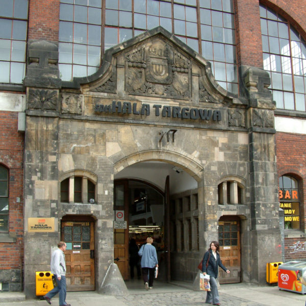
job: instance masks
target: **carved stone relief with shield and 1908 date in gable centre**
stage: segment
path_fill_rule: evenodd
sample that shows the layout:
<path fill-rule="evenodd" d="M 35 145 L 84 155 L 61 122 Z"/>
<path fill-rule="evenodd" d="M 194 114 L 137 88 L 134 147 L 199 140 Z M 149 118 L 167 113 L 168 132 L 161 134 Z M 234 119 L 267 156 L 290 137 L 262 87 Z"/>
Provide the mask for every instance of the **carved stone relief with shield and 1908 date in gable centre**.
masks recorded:
<path fill-rule="evenodd" d="M 134 50 L 125 56 L 125 90 L 129 94 L 191 97 L 191 62 L 168 44 Z"/>

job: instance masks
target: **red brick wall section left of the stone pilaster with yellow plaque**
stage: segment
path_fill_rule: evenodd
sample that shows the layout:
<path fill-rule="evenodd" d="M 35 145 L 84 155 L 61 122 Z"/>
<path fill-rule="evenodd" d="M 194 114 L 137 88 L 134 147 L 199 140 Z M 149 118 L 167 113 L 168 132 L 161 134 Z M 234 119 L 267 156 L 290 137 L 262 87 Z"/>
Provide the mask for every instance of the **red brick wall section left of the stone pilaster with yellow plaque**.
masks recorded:
<path fill-rule="evenodd" d="M 9 237 L 0 240 L 0 279 L 9 284 L 10 291 L 21 289 L 23 266 L 24 134 L 17 130 L 18 113 L 1 111 L 0 164 L 9 170 Z M 3 242 L 5 240 L 7 242 Z"/>

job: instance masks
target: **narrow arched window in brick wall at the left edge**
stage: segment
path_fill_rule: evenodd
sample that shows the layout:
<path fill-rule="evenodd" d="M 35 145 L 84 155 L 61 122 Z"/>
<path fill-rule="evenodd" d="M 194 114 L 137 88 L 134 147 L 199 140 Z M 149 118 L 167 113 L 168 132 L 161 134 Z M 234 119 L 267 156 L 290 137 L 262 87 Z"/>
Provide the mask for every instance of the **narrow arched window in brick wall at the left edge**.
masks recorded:
<path fill-rule="evenodd" d="M 0 232 L 9 231 L 9 170 L 0 165 Z"/>

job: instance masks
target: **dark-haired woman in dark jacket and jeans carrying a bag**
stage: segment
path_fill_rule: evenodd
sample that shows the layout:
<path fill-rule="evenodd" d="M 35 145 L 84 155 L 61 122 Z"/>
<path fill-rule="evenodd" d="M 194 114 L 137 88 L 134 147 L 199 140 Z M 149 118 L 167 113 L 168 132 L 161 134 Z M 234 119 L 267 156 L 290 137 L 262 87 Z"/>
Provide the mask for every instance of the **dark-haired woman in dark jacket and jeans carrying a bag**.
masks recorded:
<path fill-rule="evenodd" d="M 210 276 L 210 286 L 211 291 L 207 291 L 206 303 L 220 305 L 219 293 L 217 288 L 216 278 L 218 277 L 218 270 L 221 267 L 226 273 L 230 273 L 230 270 L 226 269 L 221 262 L 219 254 L 219 243 L 217 241 L 212 241 L 208 251 L 204 254 L 202 262 L 202 273 L 204 275 L 208 274 Z M 206 264 L 208 262 L 208 267 Z"/>

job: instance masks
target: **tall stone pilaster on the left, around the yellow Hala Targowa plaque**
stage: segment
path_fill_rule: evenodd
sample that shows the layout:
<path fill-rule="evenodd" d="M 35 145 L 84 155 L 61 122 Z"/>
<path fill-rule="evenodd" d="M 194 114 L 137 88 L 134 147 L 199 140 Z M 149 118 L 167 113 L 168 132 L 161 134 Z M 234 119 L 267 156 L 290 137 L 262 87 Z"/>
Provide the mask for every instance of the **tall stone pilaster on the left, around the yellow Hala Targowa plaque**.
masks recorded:
<path fill-rule="evenodd" d="M 61 80 L 58 45 L 29 41 L 24 148 L 24 292 L 35 297 L 35 271 L 49 271 L 59 241 L 58 115 Z M 54 232 L 29 233 L 29 218 L 55 218 Z"/>

